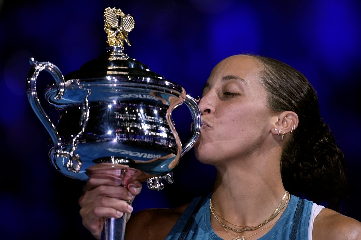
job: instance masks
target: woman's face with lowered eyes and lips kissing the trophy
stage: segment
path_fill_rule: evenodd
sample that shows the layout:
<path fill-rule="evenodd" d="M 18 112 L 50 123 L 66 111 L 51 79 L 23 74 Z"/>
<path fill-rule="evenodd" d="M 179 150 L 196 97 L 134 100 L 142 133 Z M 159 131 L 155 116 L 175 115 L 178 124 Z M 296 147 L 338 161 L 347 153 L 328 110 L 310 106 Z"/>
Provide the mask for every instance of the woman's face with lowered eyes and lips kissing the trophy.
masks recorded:
<path fill-rule="evenodd" d="M 216 165 L 261 154 L 275 114 L 266 105 L 260 67 L 255 58 L 243 55 L 214 67 L 199 101 L 202 127 L 195 153 L 200 162 Z"/>

